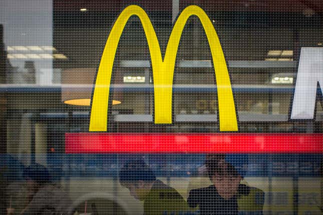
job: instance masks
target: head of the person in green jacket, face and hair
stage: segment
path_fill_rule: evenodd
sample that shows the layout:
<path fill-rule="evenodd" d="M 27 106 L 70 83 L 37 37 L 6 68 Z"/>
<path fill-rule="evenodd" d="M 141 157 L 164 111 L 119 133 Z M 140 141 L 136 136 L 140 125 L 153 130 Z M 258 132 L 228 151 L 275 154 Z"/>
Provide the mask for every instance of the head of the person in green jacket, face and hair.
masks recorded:
<path fill-rule="evenodd" d="M 121 185 L 139 200 L 144 200 L 155 180 L 153 170 L 143 160 L 130 161 L 120 169 Z"/>

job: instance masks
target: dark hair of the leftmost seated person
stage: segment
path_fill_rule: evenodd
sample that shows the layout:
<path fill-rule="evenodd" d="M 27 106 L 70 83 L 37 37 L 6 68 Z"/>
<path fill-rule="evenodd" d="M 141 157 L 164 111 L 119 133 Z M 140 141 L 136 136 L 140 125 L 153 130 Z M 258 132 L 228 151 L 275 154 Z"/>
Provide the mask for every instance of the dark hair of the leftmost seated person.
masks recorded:
<path fill-rule="evenodd" d="M 39 163 L 34 163 L 26 167 L 23 174 L 26 179 L 34 180 L 40 185 L 51 182 L 48 169 Z"/>

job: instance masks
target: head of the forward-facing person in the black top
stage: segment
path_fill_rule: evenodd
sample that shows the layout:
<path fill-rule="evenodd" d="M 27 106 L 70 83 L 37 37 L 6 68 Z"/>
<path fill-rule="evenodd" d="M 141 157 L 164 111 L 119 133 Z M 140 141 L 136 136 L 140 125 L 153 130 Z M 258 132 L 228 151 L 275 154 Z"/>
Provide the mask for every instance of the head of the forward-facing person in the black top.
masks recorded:
<path fill-rule="evenodd" d="M 224 198 L 230 198 L 237 193 L 242 176 L 227 162 L 218 162 L 211 172 L 211 181 L 214 183 L 218 193 Z"/>

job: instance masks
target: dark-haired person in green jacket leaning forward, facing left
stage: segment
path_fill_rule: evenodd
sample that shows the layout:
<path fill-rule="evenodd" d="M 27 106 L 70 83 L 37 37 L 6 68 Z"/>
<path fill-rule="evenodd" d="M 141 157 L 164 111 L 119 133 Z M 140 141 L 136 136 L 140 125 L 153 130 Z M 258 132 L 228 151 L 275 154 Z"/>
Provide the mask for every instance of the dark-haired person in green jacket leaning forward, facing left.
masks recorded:
<path fill-rule="evenodd" d="M 120 170 L 120 183 L 144 203 L 144 215 L 192 214 L 183 196 L 173 187 L 156 179 L 143 161 L 126 163 Z"/>

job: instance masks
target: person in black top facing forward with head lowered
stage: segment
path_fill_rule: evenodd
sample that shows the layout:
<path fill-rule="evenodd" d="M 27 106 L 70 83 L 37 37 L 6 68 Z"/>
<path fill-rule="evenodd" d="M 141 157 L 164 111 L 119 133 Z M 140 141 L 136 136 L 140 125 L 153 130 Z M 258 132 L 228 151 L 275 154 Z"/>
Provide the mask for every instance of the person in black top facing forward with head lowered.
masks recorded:
<path fill-rule="evenodd" d="M 209 159 L 206 168 L 213 184 L 190 190 L 188 205 L 199 206 L 200 214 L 238 214 L 237 198 L 248 195 L 250 187 L 240 184 L 242 176 L 223 159 Z"/>

